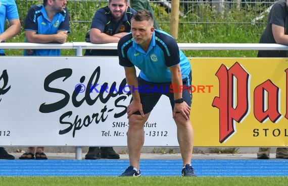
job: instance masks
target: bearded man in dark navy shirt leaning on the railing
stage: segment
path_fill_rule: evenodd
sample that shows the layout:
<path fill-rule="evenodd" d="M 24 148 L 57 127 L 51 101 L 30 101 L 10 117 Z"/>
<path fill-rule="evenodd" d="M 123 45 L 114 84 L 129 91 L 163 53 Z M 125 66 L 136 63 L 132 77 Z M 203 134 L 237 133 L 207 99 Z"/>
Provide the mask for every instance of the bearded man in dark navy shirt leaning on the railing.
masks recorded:
<path fill-rule="evenodd" d="M 95 12 L 86 41 L 95 44 L 117 43 L 130 32 L 131 18 L 135 13 L 129 7 L 128 0 L 109 0 L 108 6 Z M 85 55 L 117 56 L 118 53 L 117 50 L 87 49 Z"/>

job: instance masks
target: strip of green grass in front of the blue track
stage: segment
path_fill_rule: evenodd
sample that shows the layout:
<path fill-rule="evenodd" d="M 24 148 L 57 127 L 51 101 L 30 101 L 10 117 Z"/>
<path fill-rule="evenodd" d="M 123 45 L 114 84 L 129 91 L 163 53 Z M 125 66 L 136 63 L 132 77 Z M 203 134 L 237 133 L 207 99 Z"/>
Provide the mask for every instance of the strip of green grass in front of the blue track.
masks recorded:
<path fill-rule="evenodd" d="M 174 185 L 197 185 L 197 186 L 286 186 L 288 177 L 0 177 L 2 186 L 10 185 L 57 185 L 57 186 L 88 186 L 88 185 L 123 185 L 123 186 L 174 186 Z"/>

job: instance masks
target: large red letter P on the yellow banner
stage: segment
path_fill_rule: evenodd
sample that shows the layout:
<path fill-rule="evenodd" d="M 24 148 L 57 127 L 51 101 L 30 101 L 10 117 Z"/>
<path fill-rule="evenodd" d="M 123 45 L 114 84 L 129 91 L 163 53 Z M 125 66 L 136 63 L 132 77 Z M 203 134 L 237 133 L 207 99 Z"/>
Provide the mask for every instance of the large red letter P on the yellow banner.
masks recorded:
<path fill-rule="evenodd" d="M 235 133 L 235 121 L 241 122 L 248 113 L 249 74 L 236 62 L 229 70 L 221 65 L 216 76 L 219 79 L 219 97 L 214 98 L 212 106 L 219 109 L 219 142 L 223 143 Z"/>

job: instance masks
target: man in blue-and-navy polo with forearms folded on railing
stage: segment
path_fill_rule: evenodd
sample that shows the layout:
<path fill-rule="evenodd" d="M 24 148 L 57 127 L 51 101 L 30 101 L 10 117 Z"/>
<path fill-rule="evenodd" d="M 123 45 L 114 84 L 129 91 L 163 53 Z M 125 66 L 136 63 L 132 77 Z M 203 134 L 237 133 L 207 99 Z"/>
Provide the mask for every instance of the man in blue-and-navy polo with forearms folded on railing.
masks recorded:
<path fill-rule="evenodd" d="M 25 19 L 25 40 L 31 43 L 65 43 L 70 33 L 66 0 L 43 0 L 33 6 Z M 24 50 L 24 55 L 56 56 L 60 49 Z"/>

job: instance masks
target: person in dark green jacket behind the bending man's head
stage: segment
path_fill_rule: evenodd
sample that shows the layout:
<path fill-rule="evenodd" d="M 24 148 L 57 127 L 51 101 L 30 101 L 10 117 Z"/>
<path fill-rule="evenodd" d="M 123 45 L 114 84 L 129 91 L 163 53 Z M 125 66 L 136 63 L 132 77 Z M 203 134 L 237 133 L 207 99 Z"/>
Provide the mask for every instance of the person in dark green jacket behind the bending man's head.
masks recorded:
<path fill-rule="evenodd" d="M 154 28 L 157 30 L 161 30 L 160 25 L 158 24 L 158 22 L 155 19 L 155 13 L 154 13 L 151 5 L 149 4 L 148 0 L 129 0 L 129 5 L 135 11 L 145 9 L 145 10 L 148 10 L 149 12 L 151 12 L 152 17 L 154 19 Z"/>

